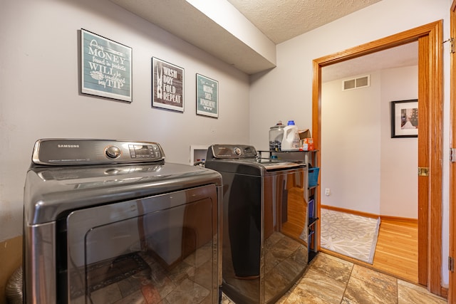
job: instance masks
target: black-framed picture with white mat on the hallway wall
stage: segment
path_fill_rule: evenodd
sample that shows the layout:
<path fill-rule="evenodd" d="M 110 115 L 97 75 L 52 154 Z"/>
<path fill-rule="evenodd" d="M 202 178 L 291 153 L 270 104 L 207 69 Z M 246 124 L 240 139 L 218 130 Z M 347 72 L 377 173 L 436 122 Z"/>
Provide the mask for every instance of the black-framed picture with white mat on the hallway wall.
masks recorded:
<path fill-rule="evenodd" d="M 418 99 L 391 102 L 391 138 L 418 137 Z"/>

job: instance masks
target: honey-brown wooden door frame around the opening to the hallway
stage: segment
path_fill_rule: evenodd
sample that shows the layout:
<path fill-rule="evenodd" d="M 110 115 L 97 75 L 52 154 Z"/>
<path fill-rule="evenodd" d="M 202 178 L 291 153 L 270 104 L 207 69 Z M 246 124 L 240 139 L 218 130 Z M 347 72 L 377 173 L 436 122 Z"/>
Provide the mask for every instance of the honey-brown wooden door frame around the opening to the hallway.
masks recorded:
<path fill-rule="evenodd" d="M 313 61 L 312 135 L 321 150 L 321 68 L 418 41 L 418 282 L 442 294 L 442 20 L 381 38 Z M 318 157 L 318 167 L 320 167 Z M 418 172 L 418 169 L 417 169 Z M 323 172 L 324 174 L 324 169 Z M 321 192 L 318 189 L 318 192 Z M 321 197 L 321 193 L 317 194 Z M 318 217 L 321 201 L 317 199 Z M 318 248 L 320 248 L 318 229 Z"/>

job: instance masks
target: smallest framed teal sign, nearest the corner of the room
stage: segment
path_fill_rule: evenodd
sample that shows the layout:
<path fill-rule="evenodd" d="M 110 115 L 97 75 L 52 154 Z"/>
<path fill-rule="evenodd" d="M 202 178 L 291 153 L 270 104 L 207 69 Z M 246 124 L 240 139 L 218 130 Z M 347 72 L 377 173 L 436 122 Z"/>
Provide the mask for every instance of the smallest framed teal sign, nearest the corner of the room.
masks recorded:
<path fill-rule="evenodd" d="M 197 74 L 197 115 L 219 117 L 219 82 Z"/>

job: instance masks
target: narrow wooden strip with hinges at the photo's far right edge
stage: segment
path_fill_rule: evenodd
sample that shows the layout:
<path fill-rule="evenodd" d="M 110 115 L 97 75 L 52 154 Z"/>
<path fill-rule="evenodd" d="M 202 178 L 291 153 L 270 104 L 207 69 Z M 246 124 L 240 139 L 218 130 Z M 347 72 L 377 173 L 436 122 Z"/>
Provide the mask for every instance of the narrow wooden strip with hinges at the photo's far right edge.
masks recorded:
<path fill-rule="evenodd" d="M 456 0 L 452 1 L 450 9 L 450 37 L 456 37 Z M 455 41 L 452 41 L 454 47 Z M 456 58 L 450 55 L 450 147 L 456 147 Z M 448 256 L 455 258 L 456 234 L 456 162 L 450 162 L 450 252 Z M 448 303 L 456 303 L 455 271 L 449 271 Z"/>

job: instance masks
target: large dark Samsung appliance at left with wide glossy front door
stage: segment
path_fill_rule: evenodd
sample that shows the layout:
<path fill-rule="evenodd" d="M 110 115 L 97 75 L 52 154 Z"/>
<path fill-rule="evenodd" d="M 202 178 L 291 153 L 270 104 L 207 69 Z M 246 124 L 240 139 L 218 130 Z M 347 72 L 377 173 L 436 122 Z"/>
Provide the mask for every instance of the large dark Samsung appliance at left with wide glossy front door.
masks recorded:
<path fill-rule="evenodd" d="M 156 142 L 38 140 L 24 303 L 217 303 L 222 179 Z"/>

